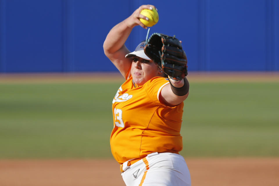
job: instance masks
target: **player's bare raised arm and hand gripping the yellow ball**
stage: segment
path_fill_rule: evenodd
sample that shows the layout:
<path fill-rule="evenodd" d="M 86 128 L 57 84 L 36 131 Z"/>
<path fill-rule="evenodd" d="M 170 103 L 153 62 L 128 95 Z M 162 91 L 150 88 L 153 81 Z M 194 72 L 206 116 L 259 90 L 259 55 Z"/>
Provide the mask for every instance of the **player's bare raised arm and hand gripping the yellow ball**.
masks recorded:
<path fill-rule="evenodd" d="M 126 54 L 130 53 L 125 46 L 125 42 L 135 26 L 140 25 L 145 29 L 147 28 L 142 22 L 140 22 L 140 18 L 146 19 L 146 17 L 141 15 L 140 12 L 143 9 L 152 10 L 152 8 L 155 8 L 155 6 L 140 6 L 127 19 L 115 25 L 105 38 L 103 44 L 105 55 L 111 60 L 124 78 L 132 63 L 131 58 L 125 58 Z"/>

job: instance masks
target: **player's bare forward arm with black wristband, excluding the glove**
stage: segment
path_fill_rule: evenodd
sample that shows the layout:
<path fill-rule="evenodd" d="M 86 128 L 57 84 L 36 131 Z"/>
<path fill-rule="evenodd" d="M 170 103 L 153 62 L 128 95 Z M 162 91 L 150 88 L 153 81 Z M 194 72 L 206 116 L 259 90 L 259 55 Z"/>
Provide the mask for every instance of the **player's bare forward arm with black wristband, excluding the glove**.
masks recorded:
<path fill-rule="evenodd" d="M 189 94 L 189 82 L 186 77 L 180 81 L 172 81 L 171 84 L 164 86 L 160 92 L 160 100 L 169 106 L 182 103 Z M 177 95 L 178 94 L 178 95 Z"/>

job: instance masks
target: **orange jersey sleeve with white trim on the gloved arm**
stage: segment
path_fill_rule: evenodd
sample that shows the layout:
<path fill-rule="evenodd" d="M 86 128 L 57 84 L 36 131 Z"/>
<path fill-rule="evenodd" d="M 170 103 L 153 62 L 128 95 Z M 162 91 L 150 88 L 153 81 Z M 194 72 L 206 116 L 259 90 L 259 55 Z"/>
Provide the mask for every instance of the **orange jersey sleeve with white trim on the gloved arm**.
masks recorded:
<path fill-rule="evenodd" d="M 146 93 L 152 101 L 160 105 L 164 105 L 163 103 L 160 102 L 159 95 L 162 88 L 167 84 L 169 84 L 168 78 L 163 78 L 163 77 L 152 78 L 147 82 L 147 86 L 145 89 Z"/>

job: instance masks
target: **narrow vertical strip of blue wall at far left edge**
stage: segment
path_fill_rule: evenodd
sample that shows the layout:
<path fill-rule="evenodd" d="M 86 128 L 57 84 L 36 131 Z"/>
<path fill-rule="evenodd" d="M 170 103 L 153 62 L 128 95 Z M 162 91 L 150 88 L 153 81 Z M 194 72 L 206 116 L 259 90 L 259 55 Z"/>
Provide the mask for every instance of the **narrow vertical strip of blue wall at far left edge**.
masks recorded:
<path fill-rule="evenodd" d="M 6 72 L 6 0 L 0 0 L 0 72 Z"/>

